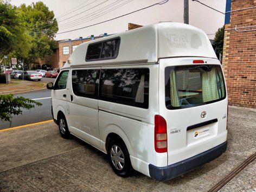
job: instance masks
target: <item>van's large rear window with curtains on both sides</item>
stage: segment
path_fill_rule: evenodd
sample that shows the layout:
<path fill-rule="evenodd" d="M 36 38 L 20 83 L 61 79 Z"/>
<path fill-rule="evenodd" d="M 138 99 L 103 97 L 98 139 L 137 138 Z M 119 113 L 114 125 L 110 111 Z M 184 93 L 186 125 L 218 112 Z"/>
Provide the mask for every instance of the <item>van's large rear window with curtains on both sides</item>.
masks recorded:
<path fill-rule="evenodd" d="M 194 65 L 165 68 L 165 104 L 187 108 L 226 98 L 221 66 Z"/>

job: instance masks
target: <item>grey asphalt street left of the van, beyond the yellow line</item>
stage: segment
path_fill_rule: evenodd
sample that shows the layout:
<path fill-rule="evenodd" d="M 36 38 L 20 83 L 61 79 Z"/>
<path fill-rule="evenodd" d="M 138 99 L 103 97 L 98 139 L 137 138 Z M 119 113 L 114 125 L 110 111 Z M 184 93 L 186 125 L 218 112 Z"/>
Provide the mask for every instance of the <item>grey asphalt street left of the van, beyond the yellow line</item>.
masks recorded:
<path fill-rule="evenodd" d="M 43 78 L 41 81 L 43 82 L 54 82 L 55 79 Z M 45 121 L 52 119 L 52 113 L 50 111 L 51 103 L 50 103 L 50 90 L 43 89 L 40 91 L 31 91 L 26 93 L 14 94 L 14 97 L 24 97 L 39 101 L 42 103 L 42 106 L 35 106 L 30 110 L 23 109 L 22 114 L 18 116 L 13 116 L 11 122 L 4 121 L 0 124 L 0 129 L 6 129 L 9 127 L 15 127 L 20 125 L 26 125 L 31 123 L 36 123 L 39 121 Z"/>

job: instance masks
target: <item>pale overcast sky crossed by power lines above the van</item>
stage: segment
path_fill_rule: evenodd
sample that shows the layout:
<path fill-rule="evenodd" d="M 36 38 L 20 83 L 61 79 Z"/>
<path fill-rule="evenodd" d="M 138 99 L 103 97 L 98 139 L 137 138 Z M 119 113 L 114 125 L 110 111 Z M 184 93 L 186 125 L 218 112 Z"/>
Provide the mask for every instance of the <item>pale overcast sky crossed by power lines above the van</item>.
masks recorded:
<path fill-rule="evenodd" d="M 76 39 L 79 37 L 99 36 L 101 34 L 116 34 L 128 29 L 128 23 L 148 25 L 160 21 L 183 23 L 183 0 L 169 0 L 159 5 L 163 0 L 41 0 L 50 11 L 54 12 L 59 24 L 56 40 Z M 226 0 L 199 0 L 216 10 L 225 12 Z M 21 4 L 30 5 L 37 0 L 11 0 L 17 7 Z M 154 5 L 156 4 L 156 5 Z M 150 5 L 153 5 L 150 8 Z M 146 9 L 143 9 L 146 8 Z M 112 21 L 97 24 L 130 12 L 130 15 Z M 202 29 L 214 39 L 216 31 L 224 25 L 225 15 L 210 9 L 199 2 L 189 0 L 189 24 Z M 97 25 L 94 25 L 97 24 Z M 93 25 L 88 27 L 89 25 Z M 80 30 L 75 30 L 84 28 Z M 66 32 L 74 30 L 71 32 Z"/>

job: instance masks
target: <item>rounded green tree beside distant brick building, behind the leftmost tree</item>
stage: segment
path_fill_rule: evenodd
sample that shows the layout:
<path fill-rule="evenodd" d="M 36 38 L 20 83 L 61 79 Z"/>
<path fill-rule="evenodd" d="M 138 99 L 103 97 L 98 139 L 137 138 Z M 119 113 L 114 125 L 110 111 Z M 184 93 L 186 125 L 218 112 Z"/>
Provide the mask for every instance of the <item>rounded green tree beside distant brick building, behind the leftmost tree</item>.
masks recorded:
<path fill-rule="evenodd" d="M 23 58 L 24 63 L 29 65 L 39 57 L 44 60 L 52 55 L 55 33 L 59 30 L 54 12 L 49 11 L 43 2 L 32 3 L 28 7 L 22 4 L 17 12 L 32 39 L 30 52 Z"/>

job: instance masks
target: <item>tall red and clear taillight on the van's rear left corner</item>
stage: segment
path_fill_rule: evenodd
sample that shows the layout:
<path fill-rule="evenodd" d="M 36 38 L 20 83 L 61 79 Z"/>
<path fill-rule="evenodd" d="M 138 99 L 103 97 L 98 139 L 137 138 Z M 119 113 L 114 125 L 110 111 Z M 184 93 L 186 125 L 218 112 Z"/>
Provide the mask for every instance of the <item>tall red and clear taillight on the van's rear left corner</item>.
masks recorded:
<path fill-rule="evenodd" d="M 158 114 L 155 115 L 155 150 L 167 152 L 167 123 Z"/>

